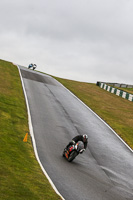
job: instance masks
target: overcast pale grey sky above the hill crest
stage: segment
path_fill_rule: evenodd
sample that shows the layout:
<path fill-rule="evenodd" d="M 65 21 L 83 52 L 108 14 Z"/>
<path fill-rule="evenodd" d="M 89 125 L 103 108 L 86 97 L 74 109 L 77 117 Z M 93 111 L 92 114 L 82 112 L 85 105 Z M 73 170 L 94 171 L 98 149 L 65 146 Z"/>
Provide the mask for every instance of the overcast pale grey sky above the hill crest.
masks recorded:
<path fill-rule="evenodd" d="M 133 0 L 0 0 L 0 59 L 133 84 Z"/>

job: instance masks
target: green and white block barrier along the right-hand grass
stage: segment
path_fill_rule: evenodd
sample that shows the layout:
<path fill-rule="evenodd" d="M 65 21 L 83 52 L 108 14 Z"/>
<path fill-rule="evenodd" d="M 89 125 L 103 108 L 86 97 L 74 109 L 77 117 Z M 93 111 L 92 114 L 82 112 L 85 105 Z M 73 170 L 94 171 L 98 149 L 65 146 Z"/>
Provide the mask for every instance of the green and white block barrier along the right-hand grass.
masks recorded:
<path fill-rule="evenodd" d="M 117 96 L 120 96 L 120 97 L 122 97 L 124 99 L 127 99 L 129 101 L 133 101 L 133 94 L 129 94 L 128 92 L 125 92 L 123 90 L 119 90 L 117 88 L 113 88 L 112 86 L 109 86 L 106 83 L 97 82 L 97 85 L 100 88 L 102 88 L 104 90 L 107 90 L 108 92 L 116 94 Z"/>

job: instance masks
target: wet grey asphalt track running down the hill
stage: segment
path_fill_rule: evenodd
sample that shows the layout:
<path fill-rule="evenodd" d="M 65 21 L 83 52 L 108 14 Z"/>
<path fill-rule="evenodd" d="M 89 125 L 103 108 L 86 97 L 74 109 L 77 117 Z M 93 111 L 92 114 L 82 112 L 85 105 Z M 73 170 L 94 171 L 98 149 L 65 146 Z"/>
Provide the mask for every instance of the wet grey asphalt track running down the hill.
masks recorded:
<path fill-rule="evenodd" d="M 42 165 L 66 200 L 133 200 L 133 153 L 93 112 L 53 78 L 20 67 Z M 66 144 L 87 134 L 72 163 Z"/>

